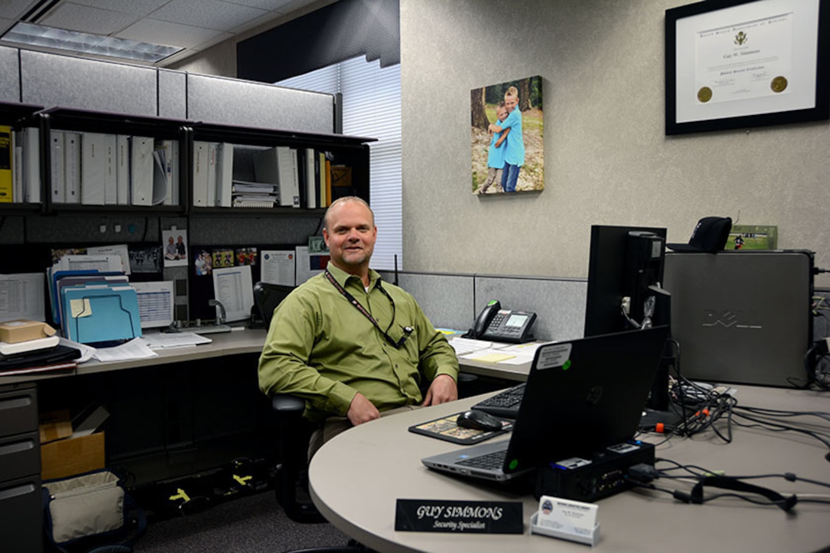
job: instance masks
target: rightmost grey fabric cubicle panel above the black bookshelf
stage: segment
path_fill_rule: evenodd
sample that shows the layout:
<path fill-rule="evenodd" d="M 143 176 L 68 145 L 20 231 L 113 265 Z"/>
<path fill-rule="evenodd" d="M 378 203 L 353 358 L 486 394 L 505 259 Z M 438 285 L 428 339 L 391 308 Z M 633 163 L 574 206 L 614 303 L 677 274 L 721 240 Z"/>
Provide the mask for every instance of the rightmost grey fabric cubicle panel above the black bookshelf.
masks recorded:
<path fill-rule="evenodd" d="M 331 95 L 188 74 L 188 119 L 308 133 L 334 130 Z"/>

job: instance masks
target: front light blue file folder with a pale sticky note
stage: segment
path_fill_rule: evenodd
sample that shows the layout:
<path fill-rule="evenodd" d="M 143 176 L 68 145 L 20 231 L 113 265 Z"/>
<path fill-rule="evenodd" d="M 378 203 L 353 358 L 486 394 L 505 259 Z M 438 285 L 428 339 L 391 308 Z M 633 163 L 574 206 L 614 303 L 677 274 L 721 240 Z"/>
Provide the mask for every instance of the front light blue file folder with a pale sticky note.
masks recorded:
<path fill-rule="evenodd" d="M 61 291 L 64 335 L 84 344 L 141 336 L 139 297 L 128 285 L 68 287 Z"/>

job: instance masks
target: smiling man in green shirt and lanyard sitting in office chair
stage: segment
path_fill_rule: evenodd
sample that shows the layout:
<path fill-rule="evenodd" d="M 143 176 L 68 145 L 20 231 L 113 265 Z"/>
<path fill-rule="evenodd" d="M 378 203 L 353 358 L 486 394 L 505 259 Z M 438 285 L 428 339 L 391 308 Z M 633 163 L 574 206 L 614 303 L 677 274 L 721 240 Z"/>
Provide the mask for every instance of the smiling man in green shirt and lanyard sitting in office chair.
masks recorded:
<path fill-rule="evenodd" d="M 305 399 L 305 418 L 319 424 L 309 459 L 354 425 L 458 397 L 447 338 L 412 295 L 369 269 L 378 234 L 369 204 L 340 198 L 323 223 L 329 265 L 276 308 L 259 362 L 260 389 Z"/>

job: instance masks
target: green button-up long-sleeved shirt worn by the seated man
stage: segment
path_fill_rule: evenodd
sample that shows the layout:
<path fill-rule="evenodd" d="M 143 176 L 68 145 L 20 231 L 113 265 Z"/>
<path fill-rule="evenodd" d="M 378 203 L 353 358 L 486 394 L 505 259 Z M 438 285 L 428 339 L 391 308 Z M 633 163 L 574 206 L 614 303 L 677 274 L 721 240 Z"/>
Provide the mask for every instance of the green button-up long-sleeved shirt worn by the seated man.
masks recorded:
<path fill-rule="evenodd" d="M 368 292 L 359 277 L 334 264 L 329 272 L 380 328 L 392 323 L 386 332 L 394 341 L 404 336 L 404 327 L 413 332 L 402 347 L 394 347 L 325 274 L 315 275 L 274 311 L 259 362 L 263 392 L 305 398 L 305 417 L 316 421 L 346 415 L 357 392 L 383 411 L 420 403 L 424 377 L 457 380 L 455 352 L 411 294 L 382 284 L 374 270 Z"/>

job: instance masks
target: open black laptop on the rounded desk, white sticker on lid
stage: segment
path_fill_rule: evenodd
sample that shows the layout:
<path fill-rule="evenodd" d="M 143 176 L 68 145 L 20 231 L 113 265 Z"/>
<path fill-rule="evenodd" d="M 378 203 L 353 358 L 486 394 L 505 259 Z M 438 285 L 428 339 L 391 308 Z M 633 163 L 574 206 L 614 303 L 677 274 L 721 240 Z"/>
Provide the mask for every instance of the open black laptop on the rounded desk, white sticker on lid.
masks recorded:
<path fill-rule="evenodd" d="M 557 342 L 536 350 L 510 439 L 422 458 L 437 471 L 505 482 L 544 463 L 631 439 L 668 327 Z"/>

